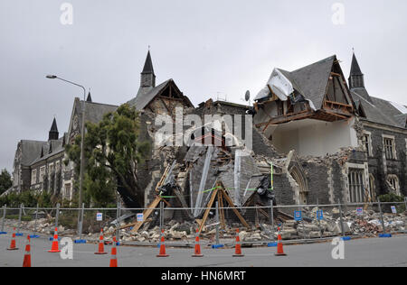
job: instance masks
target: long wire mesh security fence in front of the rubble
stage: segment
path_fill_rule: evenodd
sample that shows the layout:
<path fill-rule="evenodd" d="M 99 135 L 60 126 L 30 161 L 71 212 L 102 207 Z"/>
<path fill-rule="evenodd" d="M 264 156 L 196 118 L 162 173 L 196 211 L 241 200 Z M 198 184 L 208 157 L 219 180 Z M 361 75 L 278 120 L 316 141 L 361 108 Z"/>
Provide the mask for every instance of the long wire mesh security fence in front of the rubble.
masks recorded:
<path fill-rule="evenodd" d="M 243 246 L 331 239 L 336 236 L 374 237 L 406 233 L 404 202 L 369 204 L 296 205 L 270 207 L 171 207 L 164 201 L 156 208 L 1 208 L 0 232 L 60 236 L 87 242 L 116 236 L 121 244 L 154 245 L 164 234 L 166 244 L 193 246 L 199 234 L 204 246 L 228 246 L 239 238 Z"/>

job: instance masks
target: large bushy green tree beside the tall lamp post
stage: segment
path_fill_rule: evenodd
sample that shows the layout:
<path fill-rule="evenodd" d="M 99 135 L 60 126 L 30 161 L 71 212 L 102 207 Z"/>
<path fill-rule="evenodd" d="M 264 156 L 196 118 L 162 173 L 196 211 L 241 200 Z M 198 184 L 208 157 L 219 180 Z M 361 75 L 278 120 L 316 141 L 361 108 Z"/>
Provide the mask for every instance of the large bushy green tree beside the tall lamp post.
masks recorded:
<path fill-rule="evenodd" d="M 115 205 L 115 193 L 130 207 L 144 205 L 144 189 L 138 186 L 137 167 L 150 152 L 148 142 L 139 141 L 136 109 L 127 104 L 104 115 L 99 124 L 86 124 L 84 201 L 98 207 Z M 80 136 L 67 146 L 69 160 L 80 173 Z M 67 162 L 67 161 L 65 161 Z M 78 188 L 78 183 L 76 183 Z"/>

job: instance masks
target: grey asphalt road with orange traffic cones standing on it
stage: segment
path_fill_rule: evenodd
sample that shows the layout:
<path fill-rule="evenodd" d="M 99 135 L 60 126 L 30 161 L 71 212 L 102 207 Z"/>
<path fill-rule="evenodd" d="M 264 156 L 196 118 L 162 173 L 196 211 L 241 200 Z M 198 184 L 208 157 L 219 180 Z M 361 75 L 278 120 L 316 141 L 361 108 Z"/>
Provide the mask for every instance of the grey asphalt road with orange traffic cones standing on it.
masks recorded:
<path fill-rule="evenodd" d="M 0 267 L 21 267 L 24 259 L 24 237 L 17 237 L 18 251 L 7 251 L 11 235 L 0 235 Z M 95 255 L 96 244 L 73 244 L 73 260 L 62 260 L 60 253 L 48 253 L 52 242 L 32 239 L 33 267 L 109 267 L 111 246 L 107 255 Z M 193 258 L 193 249 L 167 248 L 167 258 L 157 258 L 158 248 L 118 247 L 119 267 L 406 267 L 407 235 L 371 238 L 345 242 L 345 259 L 334 260 L 335 245 L 285 245 L 285 257 L 276 257 L 276 248 L 243 248 L 244 257 L 232 257 L 233 249 L 203 249 L 203 258 Z"/>

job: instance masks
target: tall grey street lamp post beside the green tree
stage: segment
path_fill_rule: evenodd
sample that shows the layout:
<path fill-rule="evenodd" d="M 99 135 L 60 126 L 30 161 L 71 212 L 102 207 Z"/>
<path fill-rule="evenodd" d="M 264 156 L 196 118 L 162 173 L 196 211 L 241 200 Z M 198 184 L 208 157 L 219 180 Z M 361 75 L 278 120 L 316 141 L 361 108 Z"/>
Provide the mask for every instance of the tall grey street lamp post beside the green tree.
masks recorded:
<path fill-rule="evenodd" d="M 83 106 L 82 106 L 82 129 L 80 131 L 80 197 L 79 197 L 79 209 L 82 207 L 82 188 L 83 188 L 83 169 L 84 169 L 84 138 L 85 138 L 85 106 L 86 106 L 86 89 L 85 87 L 71 82 L 69 80 L 63 79 L 63 78 L 59 78 L 55 75 L 47 75 L 46 78 L 49 79 L 60 79 L 64 82 L 67 82 L 71 85 L 77 86 L 77 87 L 81 87 L 83 89 Z M 80 211 L 80 210 L 79 210 Z M 81 215 L 78 216 L 78 232 L 81 238 L 81 234 L 82 234 L 82 218 Z"/>

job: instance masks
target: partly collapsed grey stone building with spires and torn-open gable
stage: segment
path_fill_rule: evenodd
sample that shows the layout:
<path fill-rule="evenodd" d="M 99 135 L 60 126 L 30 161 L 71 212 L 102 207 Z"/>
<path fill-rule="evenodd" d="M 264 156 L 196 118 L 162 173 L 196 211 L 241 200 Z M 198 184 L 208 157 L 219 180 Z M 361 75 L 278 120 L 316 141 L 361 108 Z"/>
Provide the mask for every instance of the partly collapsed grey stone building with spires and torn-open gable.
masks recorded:
<path fill-rule="evenodd" d="M 153 146 L 137 170 L 145 189 L 141 207 L 156 207 L 161 193 L 171 197 L 169 205 L 190 207 L 185 215 L 197 218 L 216 198 L 241 207 L 268 206 L 270 200 L 278 205 L 364 203 L 389 192 L 406 196 L 406 106 L 369 96 L 355 54 L 348 82 L 332 56 L 291 72 L 274 69 L 252 106 L 211 99 L 194 107 L 173 79 L 156 86 L 148 51 L 137 96 L 128 101 L 140 114 L 140 138 Z M 48 141 L 18 143 L 12 190 L 73 197 L 73 165 L 63 165 L 62 159 L 64 145 L 80 133 L 83 105 L 85 120 L 92 123 L 118 107 L 75 98 L 62 138 L 54 121 Z M 237 135 L 225 122 L 216 128 L 213 120 L 190 125 L 189 133 L 184 126 L 187 143 L 175 146 L 176 134 L 157 143 L 162 128 L 157 117 L 176 121 L 177 112 L 204 122 L 207 115 L 230 115 L 243 131 Z M 214 197 L 219 183 L 222 196 Z"/>

